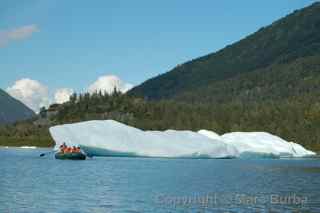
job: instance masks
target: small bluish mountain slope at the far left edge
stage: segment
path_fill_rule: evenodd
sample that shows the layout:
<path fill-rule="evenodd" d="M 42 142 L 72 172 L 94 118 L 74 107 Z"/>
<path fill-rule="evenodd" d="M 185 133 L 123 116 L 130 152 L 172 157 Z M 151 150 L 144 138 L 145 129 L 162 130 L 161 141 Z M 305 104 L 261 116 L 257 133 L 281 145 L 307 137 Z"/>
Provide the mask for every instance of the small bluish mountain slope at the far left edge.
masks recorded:
<path fill-rule="evenodd" d="M 0 89 L 0 124 L 12 123 L 35 116 L 35 113 Z"/>

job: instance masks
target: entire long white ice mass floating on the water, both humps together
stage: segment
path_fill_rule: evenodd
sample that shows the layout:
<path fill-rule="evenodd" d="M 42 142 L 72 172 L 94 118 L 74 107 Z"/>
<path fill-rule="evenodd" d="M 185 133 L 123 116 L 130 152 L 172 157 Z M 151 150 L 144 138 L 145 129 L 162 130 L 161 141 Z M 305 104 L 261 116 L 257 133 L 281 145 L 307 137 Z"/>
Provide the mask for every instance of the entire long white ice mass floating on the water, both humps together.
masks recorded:
<path fill-rule="evenodd" d="M 315 153 L 266 132 L 233 132 L 222 136 L 209 131 L 142 131 L 122 123 L 88 121 L 50 128 L 56 149 L 80 145 L 91 156 L 168 158 L 279 158 Z"/>

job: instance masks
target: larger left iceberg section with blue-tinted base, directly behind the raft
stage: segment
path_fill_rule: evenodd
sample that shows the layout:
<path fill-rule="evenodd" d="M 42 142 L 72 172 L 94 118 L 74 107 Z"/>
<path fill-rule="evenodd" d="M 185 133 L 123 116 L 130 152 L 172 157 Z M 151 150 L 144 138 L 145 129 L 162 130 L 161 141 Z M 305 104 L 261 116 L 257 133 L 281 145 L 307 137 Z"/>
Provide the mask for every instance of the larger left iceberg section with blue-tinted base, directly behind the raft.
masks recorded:
<path fill-rule="evenodd" d="M 233 145 L 192 131 L 142 131 L 113 120 L 54 126 L 50 134 L 56 149 L 80 145 L 89 156 L 166 158 L 234 158 Z"/>

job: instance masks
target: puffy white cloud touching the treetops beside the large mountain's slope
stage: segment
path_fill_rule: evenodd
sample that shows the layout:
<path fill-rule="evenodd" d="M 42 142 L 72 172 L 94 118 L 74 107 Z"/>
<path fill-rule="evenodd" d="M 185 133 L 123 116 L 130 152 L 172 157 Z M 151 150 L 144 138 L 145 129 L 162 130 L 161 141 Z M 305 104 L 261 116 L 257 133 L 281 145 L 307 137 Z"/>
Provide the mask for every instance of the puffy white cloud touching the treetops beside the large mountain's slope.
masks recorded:
<path fill-rule="evenodd" d="M 120 78 L 118 78 L 115 75 L 105 75 L 101 76 L 96 80 L 93 84 L 91 84 L 88 88 L 89 93 L 94 92 L 107 92 L 112 93 L 114 91 L 114 88 L 116 88 L 118 91 L 125 93 L 128 90 L 130 90 L 133 87 L 132 84 L 126 83 L 122 81 Z"/>

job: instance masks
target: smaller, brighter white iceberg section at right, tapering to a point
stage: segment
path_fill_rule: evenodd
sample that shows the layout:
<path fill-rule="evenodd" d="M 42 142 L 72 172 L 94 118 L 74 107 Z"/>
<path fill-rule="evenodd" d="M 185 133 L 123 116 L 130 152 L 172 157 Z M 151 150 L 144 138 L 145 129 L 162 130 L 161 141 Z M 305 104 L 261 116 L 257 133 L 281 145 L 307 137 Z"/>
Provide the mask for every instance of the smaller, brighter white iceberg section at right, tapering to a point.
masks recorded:
<path fill-rule="evenodd" d="M 240 158 L 288 158 L 316 155 L 300 144 L 287 142 L 267 132 L 231 132 L 221 136 L 208 130 L 200 130 L 198 133 L 235 146 Z"/>

